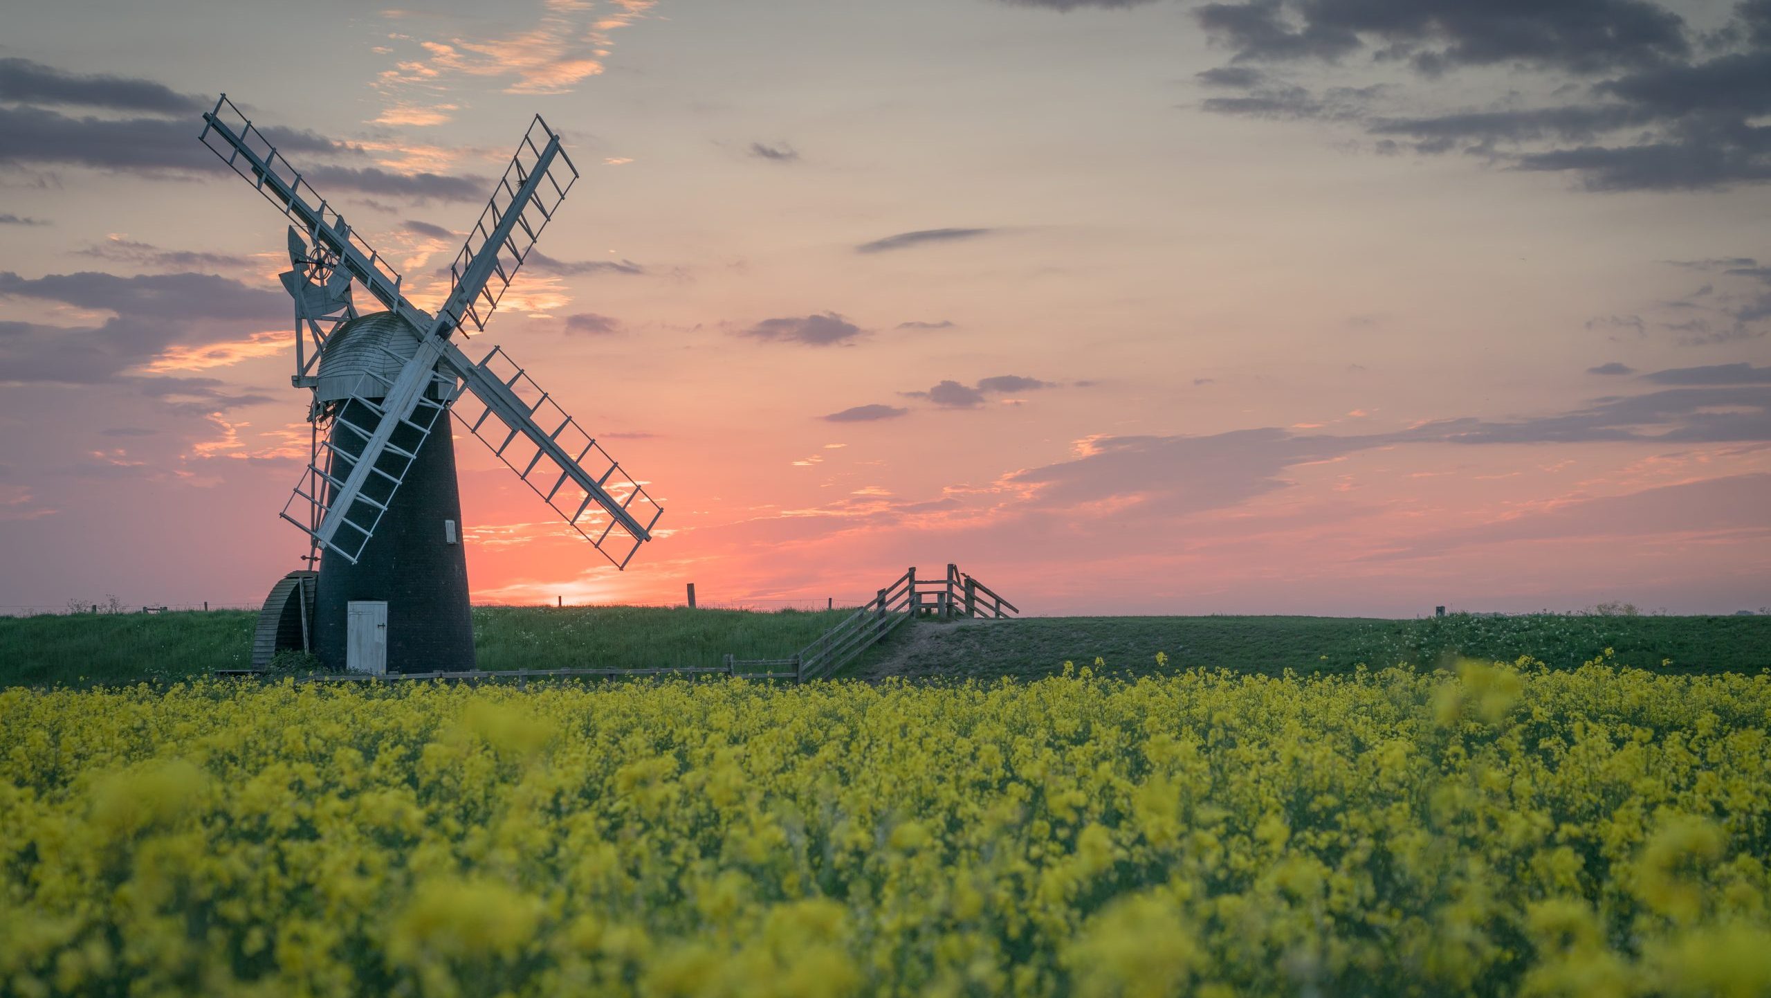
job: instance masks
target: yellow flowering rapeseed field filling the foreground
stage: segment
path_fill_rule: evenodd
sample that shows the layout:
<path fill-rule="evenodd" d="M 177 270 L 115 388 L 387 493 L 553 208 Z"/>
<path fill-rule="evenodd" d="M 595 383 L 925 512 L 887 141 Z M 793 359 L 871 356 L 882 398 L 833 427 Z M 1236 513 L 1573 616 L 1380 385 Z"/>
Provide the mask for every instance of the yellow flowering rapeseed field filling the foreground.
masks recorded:
<path fill-rule="evenodd" d="M 1771 677 L 0 693 L 5 994 L 1771 994 Z"/>

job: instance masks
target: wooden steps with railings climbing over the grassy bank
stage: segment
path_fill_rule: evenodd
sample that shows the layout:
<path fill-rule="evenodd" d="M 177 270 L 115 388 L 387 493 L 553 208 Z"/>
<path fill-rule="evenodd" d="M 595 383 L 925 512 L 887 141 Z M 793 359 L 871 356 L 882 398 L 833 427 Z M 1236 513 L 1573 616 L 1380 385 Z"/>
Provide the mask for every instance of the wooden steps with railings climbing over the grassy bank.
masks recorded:
<path fill-rule="evenodd" d="M 910 567 L 896 581 L 878 590 L 873 599 L 792 658 L 735 659 L 728 654 L 726 670 L 733 675 L 753 675 L 758 679 L 779 679 L 785 674 L 799 682 L 825 679 L 878 643 L 886 635 L 896 631 L 905 620 L 916 617 L 933 620 L 971 617 L 1006 619 L 1017 613 L 1020 610 L 1013 603 L 962 573 L 958 565 L 949 564 L 947 574 L 939 580 L 919 580 L 916 578 L 916 567 Z"/>

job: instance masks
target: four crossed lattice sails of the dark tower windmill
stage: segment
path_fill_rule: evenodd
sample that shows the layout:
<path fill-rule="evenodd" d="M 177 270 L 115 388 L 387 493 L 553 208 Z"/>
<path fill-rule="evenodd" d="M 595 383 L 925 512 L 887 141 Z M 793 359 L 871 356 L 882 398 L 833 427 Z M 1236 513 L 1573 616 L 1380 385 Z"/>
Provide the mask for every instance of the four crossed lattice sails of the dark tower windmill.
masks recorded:
<path fill-rule="evenodd" d="M 354 564 L 414 463 L 418 448 L 434 429 L 437 415 L 460 392 L 469 392 L 483 406 L 473 425 L 482 427 L 489 417 L 496 417 L 505 427 L 505 440 L 492 448 L 494 454 L 556 509 L 560 509 L 556 496 L 561 496 L 570 480 L 584 498 L 570 514 L 561 509 L 561 516 L 592 539 L 611 562 L 625 567 L 632 550 L 652 537 L 652 526 L 662 509 L 632 479 L 616 480 L 620 466 L 613 459 L 599 473 L 588 472 L 583 461 L 593 456 L 607 459 L 607 454 L 583 431 L 577 434 L 588 445 L 568 452 L 567 447 L 576 445 L 576 438 L 568 436 L 567 445 L 561 445 L 560 438 L 568 427 L 576 431 L 570 418 L 553 429 L 537 424 L 535 415 L 542 404 L 526 402 L 515 390 L 515 385 L 526 379 L 522 370 L 507 381 L 485 367 L 494 356 L 501 356 L 501 351 L 494 351 L 482 363 L 473 363 L 450 342 L 450 335 L 462 321 L 483 330 L 485 319 L 498 307 L 537 236 L 577 179 L 577 170 L 560 147 L 560 136 L 540 117 L 530 126 L 452 268 L 448 300 L 432 317 L 400 294 L 400 275 L 351 230 L 227 96 L 216 103 L 214 112 L 204 115 L 204 122 L 200 136 L 204 145 L 276 204 L 315 245 L 331 250 L 338 257 L 338 268 L 363 282 L 368 292 L 404 319 L 418 339 L 416 353 L 406 360 L 397 378 L 352 390 L 344 404 L 335 408 L 335 427 L 326 456 L 317 459 L 303 479 L 324 480 L 326 495 L 303 493 L 298 486 L 290 500 L 319 503 L 322 507 L 319 526 L 303 525 L 289 516 L 287 507 L 283 519 L 306 530 L 328 551 Z M 528 381 L 528 386 L 533 386 L 533 381 Z M 344 434 L 338 433 L 340 420 Z M 368 425 L 370 422 L 374 425 Z M 517 436 L 535 447 L 535 456 L 526 459 L 521 470 L 507 457 Z M 551 461 L 560 473 L 545 491 L 531 480 L 542 459 Z M 565 495 L 570 496 L 572 489 Z M 586 518 L 590 503 L 595 503 L 600 514 Z M 629 507 L 645 512 L 646 523 L 639 523 Z M 632 539 L 632 548 L 616 558 L 604 550 L 609 537 Z"/>

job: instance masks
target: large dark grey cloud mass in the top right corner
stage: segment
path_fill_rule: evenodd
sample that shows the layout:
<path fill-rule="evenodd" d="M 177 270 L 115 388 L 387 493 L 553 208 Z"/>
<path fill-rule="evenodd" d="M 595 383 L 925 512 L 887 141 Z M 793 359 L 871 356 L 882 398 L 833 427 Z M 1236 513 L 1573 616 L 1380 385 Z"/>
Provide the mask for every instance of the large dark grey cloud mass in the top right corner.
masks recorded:
<path fill-rule="evenodd" d="M 1764 0 L 1695 44 L 1682 18 L 1647 0 L 1249 0 L 1195 14 L 1234 55 L 1197 74 L 1213 113 L 1277 121 L 1358 121 L 1380 152 L 1465 152 L 1495 165 L 1571 177 L 1590 191 L 1714 190 L 1771 181 L 1771 41 Z M 1698 51 L 1702 48 L 1702 53 Z M 1358 58 L 1355 58 L 1358 57 Z M 1330 64 L 1353 74 L 1406 64 L 1442 74 L 1466 66 L 1539 71 L 1560 103 L 1376 113 L 1373 87 L 1305 89 L 1256 64 Z"/>

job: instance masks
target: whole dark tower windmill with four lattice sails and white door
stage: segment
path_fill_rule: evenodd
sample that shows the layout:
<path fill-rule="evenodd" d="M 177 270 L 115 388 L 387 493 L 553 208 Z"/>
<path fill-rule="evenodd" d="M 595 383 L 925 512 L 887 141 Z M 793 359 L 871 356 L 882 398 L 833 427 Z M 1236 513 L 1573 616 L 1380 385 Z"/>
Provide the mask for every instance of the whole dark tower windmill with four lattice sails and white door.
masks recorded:
<path fill-rule="evenodd" d="M 312 392 L 308 466 L 282 511 L 308 535 L 308 569 L 271 590 L 255 661 L 303 647 L 333 668 L 473 668 L 455 447 L 443 413 L 625 569 L 662 507 L 501 347 L 475 362 L 455 342 L 468 324 L 485 330 L 577 181 L 547 122 L 537 115 L 524 133 L 450 266 L 436 314 L 400 292 L 404 278 L 227 94 L 198 138 L 292 223 L 292 269 L 280 277 L 296 314 L 292 383 Z M 358 312 L 352 285 L 381 310 Z"/>

